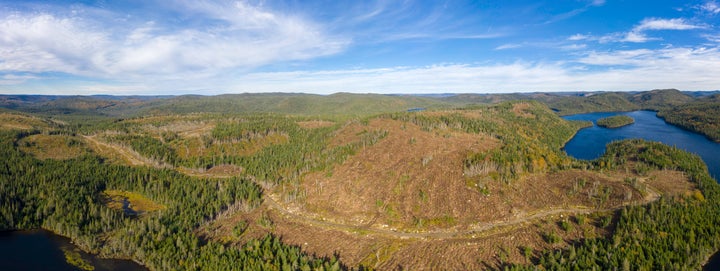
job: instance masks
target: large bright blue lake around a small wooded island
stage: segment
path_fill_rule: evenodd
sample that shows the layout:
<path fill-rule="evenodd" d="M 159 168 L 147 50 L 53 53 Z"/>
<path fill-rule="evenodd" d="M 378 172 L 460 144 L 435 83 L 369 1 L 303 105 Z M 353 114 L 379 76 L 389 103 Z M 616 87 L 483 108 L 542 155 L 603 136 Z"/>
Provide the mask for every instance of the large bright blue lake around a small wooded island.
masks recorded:
<path fill-rule="evenodd" d="M 635 123 L 620 128 L 609 129 L 597 126 L 597 120 L 614 115 L 627 115 Z M 659 141 L 670 146 L 699 155 L 707 164 L 710 175 L 720 180 L 720 143 L 715 143 L 701 134 L 697 134 L 666 123 L 652 111 L 603 112 L 578 114 L 564 117 L 567 120 L 592 121 L 593 126 L 582 129 L 565 144 L 568 155 L 592 160 L 605 153 L 605 145 L 622 139 L 642 138 Z"/>

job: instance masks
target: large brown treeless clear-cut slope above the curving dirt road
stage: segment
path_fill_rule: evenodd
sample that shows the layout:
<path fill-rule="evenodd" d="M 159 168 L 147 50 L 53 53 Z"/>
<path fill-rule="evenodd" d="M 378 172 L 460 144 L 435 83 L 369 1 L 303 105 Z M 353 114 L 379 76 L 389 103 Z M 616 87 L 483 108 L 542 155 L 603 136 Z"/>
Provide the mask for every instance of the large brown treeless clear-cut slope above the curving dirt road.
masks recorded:
<path fill-rule="evenodd" d="M 451 227 L 474 220 L 473 214 L 484 209 L 468 204 L 483 195 L 466 185 L 462 163 L 470 152 L 496 147 L 496 139 L 451 130 L 424 131 L 389 119 L 343 129 L 338 135 L 387 131 L 387 136 L 331 171 L 305 176 L 304 209 L 349 224 L 400 228 Z"/>

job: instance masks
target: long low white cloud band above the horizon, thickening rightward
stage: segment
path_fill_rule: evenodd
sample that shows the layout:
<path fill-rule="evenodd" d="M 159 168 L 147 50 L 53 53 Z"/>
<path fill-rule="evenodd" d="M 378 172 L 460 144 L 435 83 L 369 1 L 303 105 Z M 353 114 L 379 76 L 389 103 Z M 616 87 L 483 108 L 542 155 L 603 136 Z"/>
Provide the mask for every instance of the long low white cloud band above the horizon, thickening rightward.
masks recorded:
<path fill-rule="evenodd" d="M 161 80 L 68 86 L 78 94 L 220 94 L 242 92 L 442 93 L 578 90 L 714 90 L 720 49 L 666 48 L 589 52 L 558 62 L 439 64 L 350 70 L 251 72 L 212 80 Z M 54 91 L 57 86 L 34 92 Z M 27 89 L 25 89 L 28 91 Z M 3 91 L 13 91 L 3 88 Z"/>

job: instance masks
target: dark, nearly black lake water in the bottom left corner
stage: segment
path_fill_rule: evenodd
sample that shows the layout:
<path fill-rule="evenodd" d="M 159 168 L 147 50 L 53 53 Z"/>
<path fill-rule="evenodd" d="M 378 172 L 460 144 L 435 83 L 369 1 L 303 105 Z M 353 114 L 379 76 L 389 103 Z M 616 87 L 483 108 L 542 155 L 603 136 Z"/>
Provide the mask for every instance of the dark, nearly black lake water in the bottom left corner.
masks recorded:
<path fill-rule="evenodd" d="M 0 270 L 79 270 L 65 261 L 63 252 L 76 249 L 70 239 L 46 230 L 0 232 Z M 79 250 L 78 252 L 96 271 L 147 270 L 133 261 L 101 259 Z"/>

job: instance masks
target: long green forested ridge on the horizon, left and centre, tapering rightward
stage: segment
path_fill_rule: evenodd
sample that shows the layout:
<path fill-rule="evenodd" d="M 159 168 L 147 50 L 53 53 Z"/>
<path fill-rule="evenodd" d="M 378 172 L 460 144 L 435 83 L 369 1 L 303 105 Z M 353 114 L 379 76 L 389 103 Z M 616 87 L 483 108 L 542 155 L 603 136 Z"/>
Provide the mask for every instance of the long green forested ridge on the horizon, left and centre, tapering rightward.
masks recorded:
<path fill-rule="evenodd" d="M 451 107 L 451 104 L 411 95 L 259 93 L 148 97 L 3 95 L 0 107 L 45 115 L 120 117 L 191 112 L 369 115 L 410 108 Z"/>

